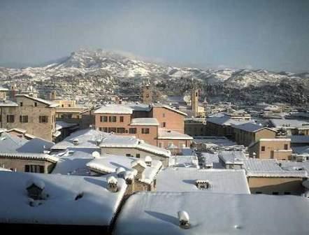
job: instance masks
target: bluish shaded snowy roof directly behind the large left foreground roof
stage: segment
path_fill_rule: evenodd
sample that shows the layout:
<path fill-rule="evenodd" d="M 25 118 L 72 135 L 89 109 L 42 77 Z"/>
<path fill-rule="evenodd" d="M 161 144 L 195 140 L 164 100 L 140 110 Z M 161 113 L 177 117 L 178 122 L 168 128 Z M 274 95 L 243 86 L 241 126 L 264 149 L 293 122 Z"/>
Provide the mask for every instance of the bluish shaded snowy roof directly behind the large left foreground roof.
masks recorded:
<path fill-rule="evenodd" d="M 63 152 L 58 152 L 55 157 L 59 161 L 52 173 L 71 176 L 90 176 L 91 172 L 87 169 L 87 163 L 92 161 L 94 150 L 92 148 L 68 148 Z"/>

